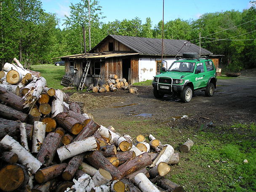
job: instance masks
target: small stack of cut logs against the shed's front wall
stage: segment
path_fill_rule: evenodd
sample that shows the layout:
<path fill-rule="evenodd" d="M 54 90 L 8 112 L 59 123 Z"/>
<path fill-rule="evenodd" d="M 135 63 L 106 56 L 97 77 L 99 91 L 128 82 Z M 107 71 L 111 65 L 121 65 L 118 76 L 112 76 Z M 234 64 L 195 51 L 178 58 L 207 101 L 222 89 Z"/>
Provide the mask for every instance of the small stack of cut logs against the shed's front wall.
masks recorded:
<path fill-rule="evenodd" d="M 137 88 L 131 88 L 125 78 L 118 78 L 117 75 L 109 75 L 109 79 L 102 86 L 89 85 L 87 91 L 93 91 L 93 93 L 115 92 L 118 89 L 128 90 L 129 93 L 136 93 Z"/>

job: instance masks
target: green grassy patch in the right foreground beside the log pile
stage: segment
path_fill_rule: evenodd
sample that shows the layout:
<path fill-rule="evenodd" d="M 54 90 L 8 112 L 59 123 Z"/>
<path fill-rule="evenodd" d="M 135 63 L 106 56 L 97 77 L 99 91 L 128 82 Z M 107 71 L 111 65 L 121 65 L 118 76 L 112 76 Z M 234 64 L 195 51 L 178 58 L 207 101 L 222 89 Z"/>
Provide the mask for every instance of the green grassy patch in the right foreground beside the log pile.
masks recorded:
<path fill-rule="evenodd" d="M 111 120 L 110 120 L 111 121 Z M 111 122 L 109 122 L 111 123 Z M 179 164 L 171 165 L 166 176 L 188 192 L 254 192 L 256 191 L 256 124 L 197 128 L 170 128 L 166 124 L 119 120 L 124 132 L 136 137 L 151 133 L 175 152 L 187 140 L 194 141 L 188 153 L 179 152 Z M 244 160 L 248 163 L 244 163 Z"/>

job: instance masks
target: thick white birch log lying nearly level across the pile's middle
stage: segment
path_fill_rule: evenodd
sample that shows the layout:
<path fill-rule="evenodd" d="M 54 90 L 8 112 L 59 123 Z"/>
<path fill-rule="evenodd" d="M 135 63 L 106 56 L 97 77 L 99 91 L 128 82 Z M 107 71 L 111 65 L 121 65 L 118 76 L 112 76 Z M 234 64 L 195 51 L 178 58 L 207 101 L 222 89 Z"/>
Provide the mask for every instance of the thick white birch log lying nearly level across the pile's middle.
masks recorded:
<path fill-rule="evenodd" d="M 86 151 L 98 150 L 99 146 L 93 136 L 88 137 L 81 141 L 75 141 L 66 146 L 57 149 L 59 159 L 61 162 L 75 155 L 81 154 Z"/>

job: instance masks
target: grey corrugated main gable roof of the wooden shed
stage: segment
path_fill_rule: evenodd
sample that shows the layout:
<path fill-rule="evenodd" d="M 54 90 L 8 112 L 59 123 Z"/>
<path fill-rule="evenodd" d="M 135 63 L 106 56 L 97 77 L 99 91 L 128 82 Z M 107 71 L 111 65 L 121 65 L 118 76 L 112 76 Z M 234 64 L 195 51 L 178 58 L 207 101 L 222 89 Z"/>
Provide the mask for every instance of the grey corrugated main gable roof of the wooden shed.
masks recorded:
<path fill-rule="evenodd" d="M 123 35 L 108 35 L 104 38 L 98 45 L 96 45 L 91 51 L 95 51 L 99 46 L 101 46 L 109 37 L 123 43 L 128 48 L 136 51 L 140 55 L 151 55 L 151 56 L 161 56 L 162 55 L 162 39 L 146 38 L 146 37 L 130 37 Z M 213 54 L 204 48 L 192 44 L 186 40 L 174 40 L 174 39 L 164 39 L 163 40 L 163 55 L 165 56 L 182 56 L 182 53 L 199 53 L 203 55 Z"/>

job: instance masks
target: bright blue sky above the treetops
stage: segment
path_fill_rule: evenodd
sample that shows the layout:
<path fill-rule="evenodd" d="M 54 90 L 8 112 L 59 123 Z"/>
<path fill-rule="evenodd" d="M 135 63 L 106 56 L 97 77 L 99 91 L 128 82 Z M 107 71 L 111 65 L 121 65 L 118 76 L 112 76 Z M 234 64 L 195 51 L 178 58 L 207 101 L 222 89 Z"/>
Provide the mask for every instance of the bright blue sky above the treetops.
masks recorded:
<path fill-rule="evenodd" d="M 80 0 L 41 0 L 43 9 L 47 13 L 56 13 L 61 20 L 64 15 L 69 16 L 71 3 L 76 4 Z M 102 16 L 106 16 L 104 23 L 122 21 L 123 19 L 134 19 L 138 17 L 142 23 L 150 17 L 154 27 L 163 19 L 163 0 L 98 0 L 102 7 Z M 250 7 L 250 0 L 165 0 L 164 1 L 164 22 L 174 19 L 198 19 L 204 13 L 221 11 L 242 12 Z M 62 29 L 63 26 L 60 26 Z"/>

